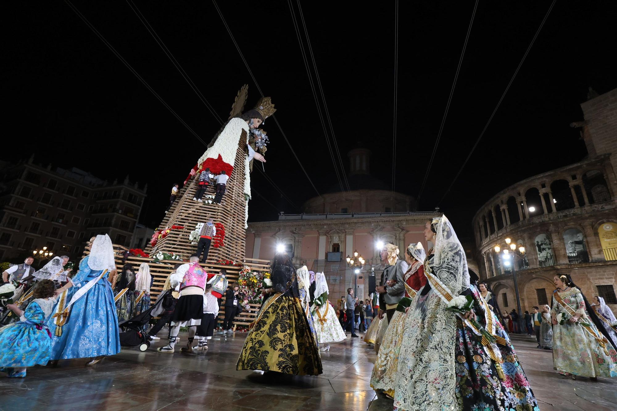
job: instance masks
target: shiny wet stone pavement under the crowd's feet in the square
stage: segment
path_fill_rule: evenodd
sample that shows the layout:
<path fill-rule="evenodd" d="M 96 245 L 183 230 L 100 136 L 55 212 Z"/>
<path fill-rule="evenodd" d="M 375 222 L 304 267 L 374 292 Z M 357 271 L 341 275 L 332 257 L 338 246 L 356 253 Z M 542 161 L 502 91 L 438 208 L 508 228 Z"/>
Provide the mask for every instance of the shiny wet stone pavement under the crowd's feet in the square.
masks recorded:
<path fill-rule="evenodd" d="M 60 361 L 57 368 L 28 369 L 25 379 L 0 378 L 1 410 L 263 410 L 381 411 L 392 400 L 370 387 L 375 352 L 362 339 L 347 338 L 321 353 L 323 374 L 264 380 L 236 371 L 246 333 L 217 334 L 204 354 L 122 352 L 94 367 L 86 360 Z M 617 379 L 568 380 L 552 369 L 550 351 L 534 340 L 514 341 L 540 410 L 617 410 Z M 4 373 L 0 373 L 4 376 Z"/>

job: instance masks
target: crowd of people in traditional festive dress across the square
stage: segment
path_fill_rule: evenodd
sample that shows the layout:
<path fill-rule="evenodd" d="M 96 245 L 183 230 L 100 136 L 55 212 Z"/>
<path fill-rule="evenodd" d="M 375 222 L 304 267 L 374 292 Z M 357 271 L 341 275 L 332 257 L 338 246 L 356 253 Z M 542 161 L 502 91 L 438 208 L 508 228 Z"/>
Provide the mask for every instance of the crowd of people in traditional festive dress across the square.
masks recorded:
<path fill-rule="evenodd" d="M 344 341 L 345 330 L 351 338 L 358 331 L 377 352 L 371 386 L 392 397 L 397 410 L 537 410 L 508 336 L 518 319 L 502 313 L 489 284 L 470 275 L 445 216 L 426 223 L 424 236 L 433 244 L 428 251 L 412 243 L 401 256 L 394 244 L 384 245 L 375 294 L 360 301 L 349 288 L 336 308 L 324 273 L 296 269 L 292 255 L 276 254 L 236 368 L 320 375 L 321 352 Z M 67 261 L 56 257 L 33 272 L 26 259 L 3 273 L 24 289 L 36 280 L 25 299 L 7 305 L 19 320 L 0 329 L 0 367 L 7 376 L 23 377 L 27 367 L 60 359 L 88 358 L 86 365 L 93 365 L 115 355 L 122 342 L 118 323 L 151 309 L 148 299 L 141 303 L 149 298 L 149 267 L 126 264 L 117 275 L 109 236 L 93 239 L 75 275 L 65 269 Z M 553 280 L 552 304 L 532 307 L 523 331 L 536 336 L 538 348 L 553 351 L 554 368 L 565 378 L 617 376 L 613 312 L 602 297 L 590 304 L 570 276 Z M 160 320 L 147 331 L 154 337 L 169 324 L 168 342 L 157 351 L 175 352 L 182 325 L 189 331 L 181 352 L 207 349 L 223 294 L 228 330 L 240 296 L 237 284 L 227 285 L 225 273 L 205 272 L 197 255 L 176 265 L 155 304 Z"/>

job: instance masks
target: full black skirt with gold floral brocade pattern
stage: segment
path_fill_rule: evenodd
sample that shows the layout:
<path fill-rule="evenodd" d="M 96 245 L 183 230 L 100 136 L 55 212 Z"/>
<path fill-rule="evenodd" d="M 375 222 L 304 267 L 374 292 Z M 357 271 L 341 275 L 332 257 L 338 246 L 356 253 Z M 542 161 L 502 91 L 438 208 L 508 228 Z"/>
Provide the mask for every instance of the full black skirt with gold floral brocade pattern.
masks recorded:
<path fill-rule="evenodd" d="M 244 341 L 237 370 L 320 375 L 321 358 L 300 300 L 270 297 Z"/>

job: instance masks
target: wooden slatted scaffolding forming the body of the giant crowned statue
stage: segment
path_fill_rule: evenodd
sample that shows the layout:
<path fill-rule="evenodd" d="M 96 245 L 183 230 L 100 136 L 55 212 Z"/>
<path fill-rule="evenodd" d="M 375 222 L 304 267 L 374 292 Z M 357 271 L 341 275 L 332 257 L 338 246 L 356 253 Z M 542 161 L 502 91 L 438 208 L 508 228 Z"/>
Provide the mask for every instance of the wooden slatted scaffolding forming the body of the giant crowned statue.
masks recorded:
<path fill-rule="evenodd" d="M 244 109 L 246 101 L 247 86 L 245 85 L 238 92 L 236 101 L 231 110 L 230 118 L 235 117 Z M 230 175 L 226 185 L 226 193 L 223 196 L 221 204 L 213 204 L 215 195 L 215 185 L 210 185 L 202 197 L 203 201 L 195 201 L 198 186 L 196 185 L 197 176 L 190 178 L 186 184 L 178 191 L 176 201 L 170 207 L 167 214 L 159 225 L 159 230 L 164 228 L 172 228 L 172 225 L 183 226 L 183 230 L 171 230 L 165 238 L 159 239 L 154 247 L 147 247 L 144 252 L 150 257 L 137 257 L 126 254 L 126 247 L 114 244 L 115 261 L 118 271 L 122 269 L 125 263 L 131 263 L 137 269 L 139 265 L 146 262 L 150 266 L 150 273 L 154 278 L 150 296 L 154 303 L 159 297 L 165 281 L 173 271 L 173 267 L 180 263 L 178 260 L 162 260 L 154 262 L 154 256 L 158 252 L 180 254 L 184 261 L 188 261 L 189 257 L 196 253 L 197 244 L 191 244 L 189 235 L 191 231 L 196 229 L 197 223 L 205 223 L 208 218 L 212 218 L 215 223 L 222 223 L 225 228 L 225 238 L 223 247 L 213 247 L 214 241 L 210 246 L 206 264 L 201 264 L 208 273 L 218 273 L 225 269 L 226 277 L 229 284 L 238 280 L 239 272 L 244 265 L 247 265 L 253 271 L 268 271 L 270 261 L 259 259 L 246 259 L 246 216 L 248 199 L 244 195 L 244 181 L 246 175 L 244 173 L 244 162 L 246 161 L 246 144 L 247 133 L 242 130 L 239 139 L 238 149 L 234 161 L 234 169 Z M 89 247 L 86 247 L 85 255 L 89 254 Z M 239 265 L 222 265 L 218 264 L 221 260 L 231 260 Z M 223 306 L 225 304 L 225 296 L 223 296 L 222 307 L 219 312 L 218 321 L 223 321 Z M 250 310 L 245 310 L 239 317 L 234 319 L 234 325 L 248 326 L 257 316 L 259 310 L 258 304 L 251 304 Z"/>

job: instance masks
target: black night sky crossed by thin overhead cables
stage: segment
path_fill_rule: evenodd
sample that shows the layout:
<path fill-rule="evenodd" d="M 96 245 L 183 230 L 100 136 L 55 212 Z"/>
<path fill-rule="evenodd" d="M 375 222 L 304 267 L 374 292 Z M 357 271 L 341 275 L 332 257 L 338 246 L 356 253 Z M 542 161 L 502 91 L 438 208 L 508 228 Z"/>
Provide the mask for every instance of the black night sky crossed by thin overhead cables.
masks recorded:
<path fill-rule="evenodd" d="M 226 120 L 249 85 L 260 97 L 212 2 L 135 0 L 217 114 Z M 297 2 L 292 1 L 297 19 Z M 350 5 L 353 7 L 349 7 Z M 373 150 L 373 174 L 391 189 L 394 2 L 303 2 L 336 143 Z M 149 85 L 208 142 L 220 123 L 172 65 L 127 2 L 73 5 Z M 286 1 L 218 1 L 260 88 L 320 193 L 337 183 Z M 347 6 L 347 7 L 346 7 Z M 418 210 L 441 211 L 459 235 L 491 196 L 516 181 L 586 156 L 579 104 L 589 86 L 617 87 L 614 1 L 557 2 L 484 137 L 439 203 L 484 128 L 549 9 L 550 1 L 479 2 L 437 156 Z M 433 151 L 473 1 L 400 2 L 395 189 L 417 196 Z M 148 183 L 141 222 L 155 227 L 169 191 L 204 152 L 197 140 L 62 1 L 4 4 L 5 136 L 27 158 L 100 178 Z M 304 28 L 300 23 L 302 41 Z M 307 49 L 308 54 L 308 49 Z M 310 59 L 310 55 L 309 55 Z M 310 62 L 310 60 L 309 60 Z M 311 67 L 312 70 L 312 67 Z M 313 73 L 313 78 L 315 78 Z M 319 91 L 317 91 L 319 93 Z M 317 195 L 273 120 L 265 171 L 298 206 Z M 252 173 L 249 221 L 300 210 Z M 369 188 L 369 187 L 367 187 Z"/>

